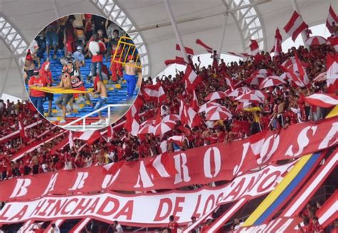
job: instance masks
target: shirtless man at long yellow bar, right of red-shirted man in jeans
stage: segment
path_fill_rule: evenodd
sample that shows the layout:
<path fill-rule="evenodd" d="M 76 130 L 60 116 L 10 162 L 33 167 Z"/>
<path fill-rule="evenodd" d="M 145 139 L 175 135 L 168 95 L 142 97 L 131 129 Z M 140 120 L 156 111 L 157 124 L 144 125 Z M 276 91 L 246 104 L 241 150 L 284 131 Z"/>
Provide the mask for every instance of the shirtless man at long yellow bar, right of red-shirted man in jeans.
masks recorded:
<path fill-rule="evenodd" d="M 52 86 L 51 88 L 71 89 L 71 76 L 69 73 L 64 73 L 58 86 Z M 66 123 L 66 106 L 71 98 L 73 98 L 73 94 L 62 94 L 55 102 L 56 106 L 62 109 L 62 118 L 59 123 Z"/>

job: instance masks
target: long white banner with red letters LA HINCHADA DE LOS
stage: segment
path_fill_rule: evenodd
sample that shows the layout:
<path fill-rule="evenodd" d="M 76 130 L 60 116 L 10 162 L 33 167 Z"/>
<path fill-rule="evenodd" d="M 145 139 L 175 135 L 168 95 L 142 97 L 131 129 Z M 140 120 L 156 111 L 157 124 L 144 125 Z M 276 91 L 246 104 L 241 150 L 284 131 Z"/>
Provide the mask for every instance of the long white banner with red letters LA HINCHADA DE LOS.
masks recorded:
<path fill-rule="evenodd" d="M 282 166 L 270 165 L 258 172 L 235 178 L 222 187 L 201 190 L 171 191 L 158 194 L 122 195 L 107 192 L 98 195 L 43 197 L 31 202 L 9 202 L 0 212 L 0 224 L 29 219 L 71 219 L 92 217 L 104 222 L 127 223 L 134 226 L 162 227 L 170 215 L 179 223 L 191 216 L 204 215 L 217 204 L 233 202 L 242 197 L 252 199 L 270 192 L 295 162 Z"/>

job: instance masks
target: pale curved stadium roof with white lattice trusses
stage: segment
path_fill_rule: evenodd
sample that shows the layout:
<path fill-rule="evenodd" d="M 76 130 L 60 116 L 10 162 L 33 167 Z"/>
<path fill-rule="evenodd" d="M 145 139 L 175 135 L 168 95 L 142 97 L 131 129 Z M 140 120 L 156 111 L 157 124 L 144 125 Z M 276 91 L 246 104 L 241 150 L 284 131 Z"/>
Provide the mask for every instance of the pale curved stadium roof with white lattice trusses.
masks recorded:
<path fill-rule="evenodd" d="M 292 14 L 294 0 L 257 4 L 262 1 L 267 0 L 170 0 L 170 6 L 180 22 L 183 43 L 195 54 L 205 53 L 195 44 L 196 38 L 219 49 L 225 12 L 240 6 L 240 11 L 229 14 L 222 51 L 244 52 L 250 38 L 260 41 L 261 49 L 270 50 L 275 29 L 281 29 Z M 329 4 L 337 9 L 337 1 L 297 1 L 309 26 L 326 21 Z M 106 16 L 128 31 L 142 54 L 144 76 L 160 73 L 165 68 L 163 61 L 179 55 L 163 0 L 0 0 L 0 10 L 0 96 L 26 97 L 21 73 L 27 44 L 43 26 L 68 14 Z M 289 37 L 281 33 L 284 39 Z"/>

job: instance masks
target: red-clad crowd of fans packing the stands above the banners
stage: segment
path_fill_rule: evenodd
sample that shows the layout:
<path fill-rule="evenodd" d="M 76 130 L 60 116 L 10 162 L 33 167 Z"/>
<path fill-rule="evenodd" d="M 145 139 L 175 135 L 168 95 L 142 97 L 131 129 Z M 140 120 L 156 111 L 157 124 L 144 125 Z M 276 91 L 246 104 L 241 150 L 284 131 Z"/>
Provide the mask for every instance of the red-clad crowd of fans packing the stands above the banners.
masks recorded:
<path fill-rule="evenodd" d="M 282 53 L 275 58 L 271 58 L 269 53 L 262 52 L 259 56 L 255 56 L 255 58 L 249 58 L 246 61 L 239 61 L 238 63 L 232 62 L 228 65 L 222 60 L 218 65 L 217 63 L 213 63 L 213 65 L 202 68 L 195 64 L 196 73 L 203 78 L 203 83 L 200 83 L 195 88 L 198 105 L 207 102 L 205 97 L 209 93 L 226 91 L 229 88 L 225 82 L 224 73 L 232 77 L 234 83 L 247 80 L 258 69 L 267 69 L 275 75 L 281 76 L 283 71 L 279 66 L 280 63 L 295 56 L 295 53 L 298 54 L 299 60 L 306 64 L 307 76 L 312 81 L 319 73 L 327 71 L 326 57 L 328 53 L 334 53 L 334 48 L 327 45 L 311 46 L 311 48 L 299 46 L 299 48 L 291 48 L 286 53 Z M 143 100 L 143 95 L 139 95 L 138 99 L 142 102 L 140 113 L 138 114 L 140 115 L 140 124 L 145 120 L 154 118 L 158 112 L 160 112 L 162 117 L 169 114 L 179 114 L 180 99 L 182 98 L 186 103 L 190 103 L 193 94 L 185 90 L 183 76 L 184 72 L 179 72 L 174 77 L 157 77 L 154 80 L 149 77 L 143 81 L 141 90 L 147 85 L 160 83 L 165 90 L 168 101 L 160 105 L 156 101 L 145 101 Z M 239 86 L 248 85 L 242 82 Z M 250 86 L 250 88 L 258 89 L 257 86 Z M 337 94 L 337 88 L 335 88 L 335 91 Z M 152 134 L 135 137 L 122 128 L 114 130 L 111 140 L 100 138 L 93 145 L 86 145 L 86 142 L 76 140 L 76 146 L 73 150 L 66 150 L 67 146 L 61 150 L 52 150 L 55 145 L 66 137 L 66 134 L 64 134 L 38 149 L 26 153 L 21 160 L 17 160 L 13 164 L 9 156 L 13 155 L 21 147 L 24 147 L 24 145 L 21 145 L 21 140 L 17 138 L 0 145 L 2 155 L 7 155 L 7 157 L 2 156 L 1 159 L 2 179 L 26 174 L 27 172 L 14 172 L 14 170 L 20 170 L 21 164 L 28 167 L 24 170 L 36 173 L 103 165 L 119 160 L 138 160 L 139 158 L 158 155 L 162 152 L 187 150 L 192 147 L 212 143 L 227 143 L 232 140 L 246 138 L 265 129 L 279 130 L 302 121 L 319 120 L 325 117 L 329 109 L 319 108 L 304 102 L 305 96 L 318 92 L 327 92 L 325 81 L 319 83 L 311 82 L 311 85 L 306 88 L 299 88 L 288 82 L 283 86 L 267 90 L 267 98 L 264 103 L 252 104 L 244 109 L 239 109 L 239 103 L 233 98 L 215 100 L 215 102 L 230 110 L 233 115 L 232 119 L 205 120 L 204 113 L 200 113 L 202 123 L 199 126 L 190 128 L 188 125 L 181 125 L 180 121 L 177 121 L 175 128 L 165 133 L 165 135 L 161 135 L 161 137 Z M 33 110 L 25 110 L 24 108 L 28 108 L 27 106 L 20 102 L 14 105 L 13 103 L 9 103 L 9 101 L 7 101 L 7 104 L 2 100 L 0 101 L 0 111 L 3 113 L 1 115 L 2 119 L 4 119 L 1 120 L 1 135 L 18 130 L 19 124 L 16 122 L 18 118 L 24 119 L 24 125 L 29 125 L 29 123 L 36 121 L 36 118 L 39 118 L 39 115 Z M 282 115 L 283 120 L 277 119 L 277 114 Z M 123 122 L 125 119 L 122 118 L 116 124 Z M 36 138 L 37 135 L 43 133 L 43 130 L 50 128 L 51 124 L 48 125 L 43 120 L 43 124 L 36 125 L 36 127 L 27 130 L 29 138 Z M 53 132 L 59 132 L 59 129 L 56 128 L 50 131 L 44 137 L 51 135 Z M 166 140 L 173 135 L 183 135 L 185 138 L 183 145 L 167 143 Z M 33 164 L 39 165 L 39 168 L 33 169 Z"/>

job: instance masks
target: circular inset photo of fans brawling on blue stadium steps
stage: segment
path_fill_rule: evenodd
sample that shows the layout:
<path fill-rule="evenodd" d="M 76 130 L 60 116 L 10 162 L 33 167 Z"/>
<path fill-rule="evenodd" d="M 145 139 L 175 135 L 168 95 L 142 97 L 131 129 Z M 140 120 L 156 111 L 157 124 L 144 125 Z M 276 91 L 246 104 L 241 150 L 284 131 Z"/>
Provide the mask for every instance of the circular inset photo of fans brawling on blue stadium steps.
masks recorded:
<path fill-rule="evenodd" d="M 72 14 L 48 24 L 24 64 L 31 103 L 67 130 L 98 130 L 133 104 L 142 83 L 138 49 L 113 21 Z"/>

